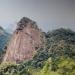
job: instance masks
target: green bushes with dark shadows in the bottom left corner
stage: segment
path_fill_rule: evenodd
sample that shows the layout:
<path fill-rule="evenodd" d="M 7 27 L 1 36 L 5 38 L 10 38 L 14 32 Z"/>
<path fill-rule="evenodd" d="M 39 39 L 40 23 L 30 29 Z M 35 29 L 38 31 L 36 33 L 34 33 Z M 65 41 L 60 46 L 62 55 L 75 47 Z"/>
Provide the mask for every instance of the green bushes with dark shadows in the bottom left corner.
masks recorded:
<path fill-rule="evenodd" d="M 15 63 L 3 63 L 0 65 L 0 75 L 31 75 L 28 68 Z"/>

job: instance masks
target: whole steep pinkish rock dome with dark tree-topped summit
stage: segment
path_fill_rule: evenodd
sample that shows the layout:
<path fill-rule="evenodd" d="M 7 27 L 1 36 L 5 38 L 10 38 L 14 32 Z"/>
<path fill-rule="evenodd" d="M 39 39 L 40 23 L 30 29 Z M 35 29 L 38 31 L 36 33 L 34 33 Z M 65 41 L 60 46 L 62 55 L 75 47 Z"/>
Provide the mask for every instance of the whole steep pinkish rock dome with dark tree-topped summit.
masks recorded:
<path fill-rule="evenodd" d="M 36 49 L 42 46 L 42 32 L 29 18 L 22 18 L 7 48 L 4 62 L 31 60 Z"/>

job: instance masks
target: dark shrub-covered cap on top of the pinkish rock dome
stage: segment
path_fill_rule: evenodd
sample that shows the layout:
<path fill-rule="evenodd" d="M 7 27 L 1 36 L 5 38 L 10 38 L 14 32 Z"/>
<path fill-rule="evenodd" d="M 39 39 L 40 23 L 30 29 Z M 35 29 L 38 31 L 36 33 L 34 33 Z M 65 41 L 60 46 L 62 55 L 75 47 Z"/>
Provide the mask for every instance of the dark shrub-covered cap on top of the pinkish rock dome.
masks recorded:
<path fill-rule="evenodd" d="M 35 29 L 39 29 L 36 22 L 27 18 L 27 17 L 23 17 L 17 24 L 17 29 L 16 30 L 23 30 L 25 27 L 27 27 L 28 25 L 30 25 L 30 27 L 33 27 Z"/>

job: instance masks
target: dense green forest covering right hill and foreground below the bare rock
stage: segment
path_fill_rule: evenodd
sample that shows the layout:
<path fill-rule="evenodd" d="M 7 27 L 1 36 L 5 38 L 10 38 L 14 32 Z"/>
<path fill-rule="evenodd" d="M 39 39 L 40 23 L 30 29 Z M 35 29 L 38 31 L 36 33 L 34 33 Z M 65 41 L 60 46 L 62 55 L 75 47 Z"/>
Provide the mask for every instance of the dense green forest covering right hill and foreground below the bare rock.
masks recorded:
<path fill-rule="evenodd" d="M 32 60 L 1 63 L 0 75 L 75 75 L 75 32 L 60 28 L 43 35 L 44 46 Z"/>

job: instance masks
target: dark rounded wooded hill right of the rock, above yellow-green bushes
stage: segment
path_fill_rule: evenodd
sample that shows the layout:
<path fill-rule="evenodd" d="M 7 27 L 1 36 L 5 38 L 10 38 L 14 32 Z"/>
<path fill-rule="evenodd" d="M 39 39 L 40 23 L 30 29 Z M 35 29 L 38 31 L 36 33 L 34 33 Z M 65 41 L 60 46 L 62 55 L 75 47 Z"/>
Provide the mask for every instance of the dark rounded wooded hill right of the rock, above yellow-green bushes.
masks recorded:
<path fill-rule="evenodd" d="M 75 32 L 70 29 L 57 29 L 46 34 L 46 48 L 57 55 L 75 55 Z M 71 53 L 70 53 L 71 52 Z"/>

